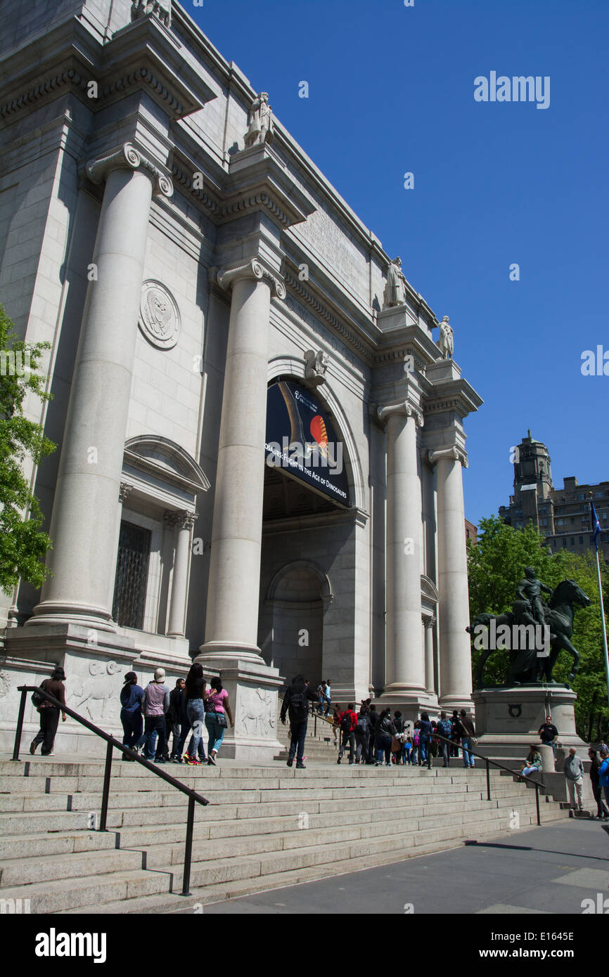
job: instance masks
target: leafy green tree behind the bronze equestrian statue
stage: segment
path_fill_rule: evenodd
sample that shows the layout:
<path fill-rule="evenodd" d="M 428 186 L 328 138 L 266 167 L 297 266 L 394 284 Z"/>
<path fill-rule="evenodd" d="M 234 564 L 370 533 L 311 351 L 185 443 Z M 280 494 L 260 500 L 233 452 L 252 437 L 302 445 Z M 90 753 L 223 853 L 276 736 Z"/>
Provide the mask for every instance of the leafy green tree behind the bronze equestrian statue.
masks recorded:
<path fill-rule="evenodd" d="M 539 578 L 556 587 L 561 580 L 575 580 L 589 597 L 588 608 L 578 608 L 575 615 L 572 642 L 581 655 L 579 672 L 573 683 L 578 694 L 575 706 L 577 729 L 585 739 L 597 739 L 607 730 L 609 708 L 603 658 L 600 601 L 596 578 L 596 558 L 590 546 L 588 552 L 550 553 L 544 537 L 532 523 L 522 530 L 513 530 L 497 516 L 480 521 L 478 541 L 467 542 L 469 578 L 469 619 L 484 612 L 493 615 L 511 611 L 516 586 L 525 567 L 534 567 Z M 609 572 L 601 561 L 601 580 L 605 607 L 609 607 Z M 482 653 L 472 648 L 475 670 Z M 554 668 L 554 679 L 566 682 L 572 658 L 561 652 Z M 500 685 L 507 675 L 508 654 L 497 651 L 485 666 L 485 684 Z M 591 730 L 590 730 L 591 725 Z"/>

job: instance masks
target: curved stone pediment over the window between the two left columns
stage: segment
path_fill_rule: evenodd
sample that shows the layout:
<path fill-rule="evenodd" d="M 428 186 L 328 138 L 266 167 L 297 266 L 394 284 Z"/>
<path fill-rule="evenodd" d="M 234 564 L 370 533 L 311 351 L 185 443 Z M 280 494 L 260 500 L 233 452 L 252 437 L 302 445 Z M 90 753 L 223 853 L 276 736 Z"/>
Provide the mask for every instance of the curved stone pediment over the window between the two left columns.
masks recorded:
<path fill-rule="evenodd" d="M 138 435 L 125 443 L 124 460 L 132 468 L 160 482 L 196 495 L 207 491 L 209 480 L 183 447 L 156 435 Z"/>

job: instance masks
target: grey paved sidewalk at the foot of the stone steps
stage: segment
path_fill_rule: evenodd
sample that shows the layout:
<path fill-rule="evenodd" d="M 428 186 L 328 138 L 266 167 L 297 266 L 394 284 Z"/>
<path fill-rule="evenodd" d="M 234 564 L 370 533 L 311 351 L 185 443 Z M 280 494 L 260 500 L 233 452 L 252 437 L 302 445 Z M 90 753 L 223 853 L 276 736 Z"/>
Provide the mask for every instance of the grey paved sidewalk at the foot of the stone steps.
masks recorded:
<path fill-rule="evenodd" d="M 204 913 L 565 913 L 609 897 L 609 827 L 573 820 L 204 907 Z M 405 906 L 407 907 L 405 910 Z M 410 908 L 412 907 L 412 908 Z"/>

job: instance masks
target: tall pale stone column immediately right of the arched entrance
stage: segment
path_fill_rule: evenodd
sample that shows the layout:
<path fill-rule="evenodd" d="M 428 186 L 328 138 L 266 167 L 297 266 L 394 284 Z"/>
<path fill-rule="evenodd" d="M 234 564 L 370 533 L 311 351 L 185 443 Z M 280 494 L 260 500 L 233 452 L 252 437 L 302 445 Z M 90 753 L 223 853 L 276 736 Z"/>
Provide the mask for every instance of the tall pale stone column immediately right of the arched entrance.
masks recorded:
<path fill-rule="evenodd" d="M 421 493 L 411 404 L 381 407 L 387 418 L 385 695 L 424 692 L 420 547 Z"/>

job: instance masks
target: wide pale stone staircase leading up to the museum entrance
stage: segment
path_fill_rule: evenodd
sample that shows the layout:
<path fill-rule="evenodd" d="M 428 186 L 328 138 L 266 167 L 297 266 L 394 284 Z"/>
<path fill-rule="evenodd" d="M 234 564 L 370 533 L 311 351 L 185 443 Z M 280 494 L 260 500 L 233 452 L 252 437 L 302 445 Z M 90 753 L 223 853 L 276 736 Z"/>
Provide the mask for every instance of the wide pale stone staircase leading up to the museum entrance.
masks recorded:
<path fill-rule="evenodd" d="M 180 913 L 263 889 L 440 851 L 536 824 L 535 792 L 509 776 L 455 767 L 165 769 L 196 805 L 189 897 L 182 888 L 186 797 L 135 763 L 114 762 L 108 831 L 104 764 L 0 761 L 0 899 L 31 913 Z M 567 817 L 542 799 L 542 823 Z M 512 822 L 513 825 L 513 822 Z"/>

